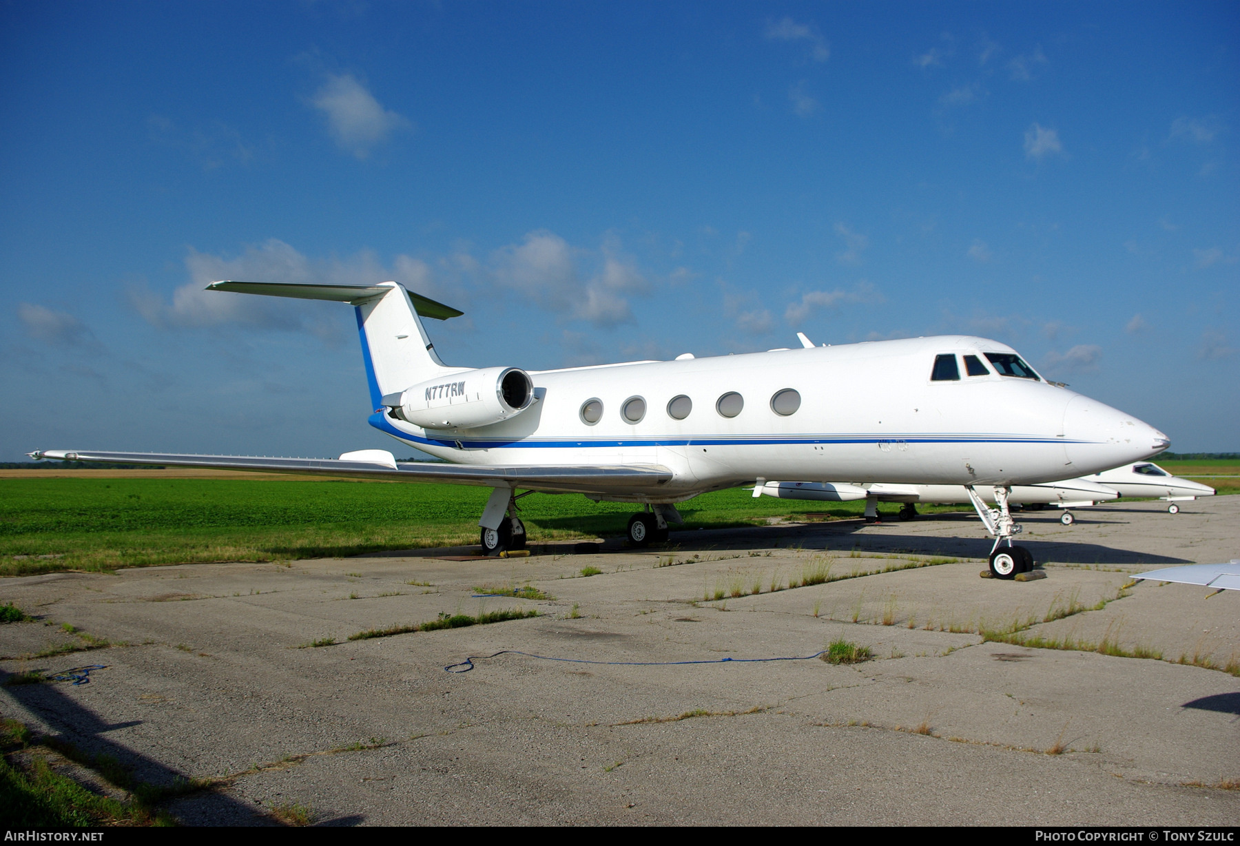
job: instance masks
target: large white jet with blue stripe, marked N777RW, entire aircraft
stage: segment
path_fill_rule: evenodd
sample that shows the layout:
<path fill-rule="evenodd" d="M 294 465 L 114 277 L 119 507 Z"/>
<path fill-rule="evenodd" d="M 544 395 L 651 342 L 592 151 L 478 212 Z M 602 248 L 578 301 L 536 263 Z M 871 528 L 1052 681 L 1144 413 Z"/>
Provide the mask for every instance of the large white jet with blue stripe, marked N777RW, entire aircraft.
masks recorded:
<path fill-rule="evenodd" d="M 982 337 L 549 371 L 451 367 L 422 318 L 461 313 L 394 282 L 217 282 L 208 290 L 351 304 L 371 425 L 446 463 L 398 464 L 374 449 L 336 460 L 91 450 L 31 456 L 487 486 L 479 520 L 487 553 L 525 543 L 517 501 L 534 491 L 640 504 L 629 540 L 645 546 L 681 522 L 677 502 L 768 479 L 987 485 L 998 506 L 978 511 L 996 538 L 991 567 L 1011 578 L 1032 566 L 1012 543 L 1019 531 L 1008 512 L 1013 485 L 1084 476 L 1169 445 L 1131 414 L 1048 383 L 1013 349 Z"/>

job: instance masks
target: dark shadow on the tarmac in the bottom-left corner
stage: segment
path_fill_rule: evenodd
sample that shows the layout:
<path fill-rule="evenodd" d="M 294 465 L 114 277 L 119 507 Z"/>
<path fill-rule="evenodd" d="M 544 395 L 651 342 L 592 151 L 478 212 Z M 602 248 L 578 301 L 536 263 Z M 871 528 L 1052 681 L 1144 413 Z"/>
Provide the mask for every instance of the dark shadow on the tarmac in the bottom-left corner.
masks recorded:
<path fill-rule="evenodd" d="M 107 737 L 108 732 L 130 726 L 140 726 L 141 719 L 124 723 L 105 723 L 89 708 L 74 702 L 66 696 L 62 682 L 48 681 L 41 685 L 9 685 L 12 674 L 0 670 L 0 683 L 5 685 L 5 691 L 27 710 L 33 712 L 47 726 L 48 733 L 60 739 L 72 743 L 79 750 L 95 758 L 110 755 L 131 774 L 135 781 L 145 781 L 155 786 L 171 786 L 180 779 L 185 779 L 184 773 L 161 764 L 157 760 L 135 752 Z M 98 681 L 94 681 L 98 679 Z M 92 685 L 107 683 L 107 675 L 93 675 Z M 213 821 L 222 825 L 278 825 L 274 820 L 255 814 L 252 808 L 238 803 L 218 790 L 205 790 L 181 799 L 176 804 L 192 801 L 192 820 L 184 820 L 191 825 L 202 825 Z M 182 811 L 177 808 L 172 813 L 184 819 Z M 347 824 L 346 824 L 347 825 Z"/>

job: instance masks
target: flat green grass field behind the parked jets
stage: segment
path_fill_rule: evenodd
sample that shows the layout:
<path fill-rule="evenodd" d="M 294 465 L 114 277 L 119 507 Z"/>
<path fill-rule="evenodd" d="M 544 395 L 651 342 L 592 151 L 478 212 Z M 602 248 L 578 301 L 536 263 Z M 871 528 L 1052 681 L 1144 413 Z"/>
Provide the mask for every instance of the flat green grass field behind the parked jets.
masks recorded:
<path fill-rule="evenodd" d="M 1238 461 L 1164 461 L 1219 492 Z M 288 561 L 379 550 L 477 543 L 490 489 L 366 481 L 243 479 L 0 479 L 0 576 L 208 561 Z M 804 502 L 748 490 L 704 494 L 680 506 L 686 528 L 720 528 L 768 517 L 861 515 L 861 502 Z M 880 511 L 894 516 L 898 505 Z M 639 507 L 575 494 L 521 500 L 532 542 L 622 535 Z M 967 506 L 919 506 L 960 511 Z"/>

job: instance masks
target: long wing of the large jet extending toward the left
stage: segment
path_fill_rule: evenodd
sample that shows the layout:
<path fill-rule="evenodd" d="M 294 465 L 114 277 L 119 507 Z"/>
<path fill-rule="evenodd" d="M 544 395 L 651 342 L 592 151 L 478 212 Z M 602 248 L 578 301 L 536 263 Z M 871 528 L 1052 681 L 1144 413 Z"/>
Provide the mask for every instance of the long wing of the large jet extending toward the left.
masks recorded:
<path fill-rule="evenodd" d="M 145 464 L 258 473 L 315 474 L 353 479 L 397 481 L 441 481 L 484 488 L 523 488 L 547 492 L 588 494 L 624 489 L 653 488 L 670 481 L 672 471 L 661 465 L 582 465 L 513 466 L 439 464 L 432 461 L 398 463 L 384 450 L 345 453 L 353 460 L 322 458 L 262 458 L 253 455 L 179 455 L 165 453 L 100 453 L 47 449 L 29 453 L 33 459 L 62 461 L 99 461 L 104 464 Z"/>

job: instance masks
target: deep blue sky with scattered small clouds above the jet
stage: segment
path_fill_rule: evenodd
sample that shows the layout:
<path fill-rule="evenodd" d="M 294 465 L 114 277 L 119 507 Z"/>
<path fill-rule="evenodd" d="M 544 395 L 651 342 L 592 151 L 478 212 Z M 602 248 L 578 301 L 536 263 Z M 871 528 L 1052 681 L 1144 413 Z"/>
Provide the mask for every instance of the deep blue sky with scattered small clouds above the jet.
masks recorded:
<path fill-rule="evenodd" d="M 0 460 L 394 447 L 350 309 L 219 278 L 397 279 L 466 311 L 428 321 L 459 365 L 978 334 L 1238 450 L 1238 36 L 1224 2 L 4 2 Z"/>

